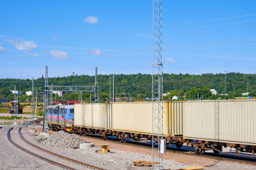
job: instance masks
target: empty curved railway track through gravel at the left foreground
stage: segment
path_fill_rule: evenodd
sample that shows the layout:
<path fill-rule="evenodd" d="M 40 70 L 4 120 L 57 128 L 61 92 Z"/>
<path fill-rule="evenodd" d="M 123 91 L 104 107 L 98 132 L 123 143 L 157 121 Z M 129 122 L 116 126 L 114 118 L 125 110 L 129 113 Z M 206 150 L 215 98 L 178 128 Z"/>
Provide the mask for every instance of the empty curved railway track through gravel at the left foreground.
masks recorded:
<path fill-rule="evenodd" d="M 38 122 L 39 122 L 39 121 L 38 121 Z M 28 123 L 30 123 L 30 122 L 28 122 Z M 93 165 L 89 165 L 89 164 L 86 164 L 86 163 L 82 163 L 82 162 L 80 162 L 80 161 L 73 160 L 73 159 L 71 159 L 71 158 L 67 158 L 67 157 L 64 157 L 64 156 L 62 156 L 62 155 L 53 153 L 53 152 L 51 152 L 51 151 L 49 151 L 49 150 L 45 150 L 45 149 L 43 149 L 43 148 L 41 148 L 41 147 L 38 147 L 38 146 L 36 146 L 36 145 L 34 145 L 34 144 L 28 142 L 28 140 L 26 140 L 26 139 L 23 137 L 23 135 L 22 135 L 22 133 L 21 133 L 21 128 L 22 128 L 22 127 L 20 127 L 19 130 L 18 130 L 18 135 L 20 136 L 20 138 L 21 138 L 25 143 L 27 143 L 28 145 L 30 145 L 31 147 L 36 148 L 37 150 L 42 151 L 44 154 L 47 153 L 47 154 L 49 154 L 49 155 L 51 155 L 51 156 L 54 156 L 54 157 L 56 157 L 56 158 L 59 158 L 59 159 L 61 159 L 61 160 L 67 160 L 67 162 L 69 162 L 69 163 L 74 163 L 75 166 L 80 165 L 80 166 L 82 166 L 82 167 L 84 167 L 84 168 L 90 168 L 90 169 L 93 169 L 93 170 L 104 170 L 104 169 L 102 169 L 102 168 L 99 168 L 99 167 L 96 167 L 96 166 L 93 166 Z M 67 169 L 67 170 L 75 170 L 75 168 L 73 168 L 73 167 L 71 167 L 71 166 L 67 166 L 67 165 L 64 165 L 64 164 L 62 164 L 62 163 L 59 163 L 59 162 L 56 161 L 56 160 L 52 160 L 52 159 L 46 158 L 46 156 L 42 156 L 41 154 L 38 155 L 38 154 L 32 152 L 30 149 L 25 148 L 25 147 L 22 147 L 21 145 L 18 145 L 18 144 L 15 143 L 15 142 L 13 141 L 13 139 L 10 137 L 10 131 L 11 131 L 11 130 L 13 130 L 13 127 L 8 130 L 8 133 L 7 133 L 8 140 L 10 141 L 10 143 L 12 143 L 13 145 L 15 145 L 15 146 L 16 146 L 17 148 L 19 148 L 20 150 L 23 150 L 24 152 L 26 152 L 26 153 L 28 153 L 28 154 L 30 154 L 30 155 L 33 155 L 34 157 L 36 157 L 36 158 L 38 158 L 38 159 L 44 160 L 44 161 L 46 161 L 47 163 L 50 163 L 50 164 L 52 164 L 52 165 L 56 165 L 56 166 L 58 166 L 58 167 L 60 167 L 60 168 Z M 32 150 L 33 150 L 33 149 L 32 149 Z M 56 159 L 56 158 L 55 158 L 55 159 Z"/>

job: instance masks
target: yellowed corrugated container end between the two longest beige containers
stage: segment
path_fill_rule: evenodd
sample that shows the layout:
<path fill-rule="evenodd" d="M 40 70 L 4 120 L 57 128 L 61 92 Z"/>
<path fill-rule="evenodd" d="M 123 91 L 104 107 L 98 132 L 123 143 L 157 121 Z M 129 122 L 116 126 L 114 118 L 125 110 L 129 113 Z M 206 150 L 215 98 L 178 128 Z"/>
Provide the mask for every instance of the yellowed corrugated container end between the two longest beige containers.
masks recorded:
<path fill-rule="evenodd" d="M 184 102 L 169 102 L 169 135 L 183 133 L 183 105 Z"/>

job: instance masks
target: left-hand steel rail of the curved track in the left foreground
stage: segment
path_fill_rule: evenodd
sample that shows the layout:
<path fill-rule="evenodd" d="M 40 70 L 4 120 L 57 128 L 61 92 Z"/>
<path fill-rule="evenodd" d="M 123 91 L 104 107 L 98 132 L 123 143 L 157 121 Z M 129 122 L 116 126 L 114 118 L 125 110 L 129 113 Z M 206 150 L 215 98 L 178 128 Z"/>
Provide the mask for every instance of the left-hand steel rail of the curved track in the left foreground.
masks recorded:
<path fill-rule="evenodd" d="M 39 159 L 41 159 L 41 160 L 44 160 L 44 161 L 46 161 L 46 162 L 48 162 L 48 163 L 51 163 L 51 164 L 56 165 L 56 166 L 59 166 L 59 167 L 61 167 L 61 168 L 64 168 L 64 169 L 67 169 L 67 170 L 75 170 L 74 168 L 71 168 L 71 167 L 68 167 L 68 166 L 66 166 L 66 165 L 57 163 L 57 162 L 55 162 L 55 161 L 53 161 L 53 160 L 49 160 L 49 159 L 47 159 L 47 158 L 44 158 L 44 157 L 42 157 L 42 156 L 40 156 L 40 155 L 37 155 L 37 154 L 35 154 L 35 153 L 32 153 L 32 152 L 29 151 L 29 150 L 26 150 L 25 148 L 22 148 L 20 145 L 17 145 L 17 144 L 16 144 L 15 142 L 13 142 L 13 140 L 10 138 L 10 131 L 11 131 L 11 130 L 13 130 L 13 127 L 8 130 L 8 133 L 7 133 L 8 140 L 10 141 L 10 143 L 12 143 L 14 146 L 16 146 L 17 148 L 19 148 L 20 150 L 23 150 L 24 152 L 26 152 L 26 153 L 28 153 L 28 154 L 30 154 L 30 155 L 36 157 L 36 158 L 39 158 Z"/>

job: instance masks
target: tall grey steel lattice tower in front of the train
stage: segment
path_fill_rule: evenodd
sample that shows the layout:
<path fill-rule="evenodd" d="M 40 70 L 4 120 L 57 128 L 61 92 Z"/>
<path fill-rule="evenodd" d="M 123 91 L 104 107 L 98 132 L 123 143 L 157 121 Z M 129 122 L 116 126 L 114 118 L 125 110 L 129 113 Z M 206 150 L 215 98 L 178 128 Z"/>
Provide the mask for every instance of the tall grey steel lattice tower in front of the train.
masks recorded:
<path fill-rule="evenodd" d="M 153 65 L 152 65 L 152 169 L 163 170 L 163 65 L 162 65 L 162 11 L 161 0 L 153 0 Z M 154 165 L 158 162 L 158 165 Z"/>

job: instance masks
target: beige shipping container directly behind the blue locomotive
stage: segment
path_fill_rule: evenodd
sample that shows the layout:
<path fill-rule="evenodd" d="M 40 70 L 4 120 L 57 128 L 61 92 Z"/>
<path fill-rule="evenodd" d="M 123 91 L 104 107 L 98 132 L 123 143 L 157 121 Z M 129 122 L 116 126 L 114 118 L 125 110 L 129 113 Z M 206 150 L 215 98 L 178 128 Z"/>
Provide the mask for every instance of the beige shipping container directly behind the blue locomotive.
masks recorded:
<path fill-rule="evenodd" d="M 107 103 L 74 104 L 74 126 L 107 128 Z"/>

